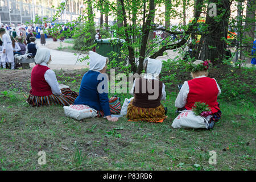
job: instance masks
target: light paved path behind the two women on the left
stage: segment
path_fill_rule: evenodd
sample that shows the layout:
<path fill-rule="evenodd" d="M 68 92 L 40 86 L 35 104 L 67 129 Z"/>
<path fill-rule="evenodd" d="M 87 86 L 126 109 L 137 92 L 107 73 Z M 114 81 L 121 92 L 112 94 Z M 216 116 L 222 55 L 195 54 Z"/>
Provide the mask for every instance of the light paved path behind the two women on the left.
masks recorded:
<path fill-rule="evenodd" d="M 46 39 L 46 46 L 42 46 L 40 44 L 40 39 L 36 40 L 36 44 L 40 48 L 49 48 L 51 50 L 52 62 L 49 64 L 49 68 L 51 69 L 82 69 L 82 68 L 89 68 L 87 65 L 88 61 L 77 61 L 78 57 L 85 55 L 74 55 L 72 52 L 64 52 L 64 51 L 57 51 L 55 49 L 51 49 L 53 47 L 59 47 L 60 40 L 57 42 L 53 42 L 52 39 Z M 66 46 L 67 43 L 62 43 L 63 46 Z M 31 63 L 30 67 L 34 67 L 35 64 Z"/>

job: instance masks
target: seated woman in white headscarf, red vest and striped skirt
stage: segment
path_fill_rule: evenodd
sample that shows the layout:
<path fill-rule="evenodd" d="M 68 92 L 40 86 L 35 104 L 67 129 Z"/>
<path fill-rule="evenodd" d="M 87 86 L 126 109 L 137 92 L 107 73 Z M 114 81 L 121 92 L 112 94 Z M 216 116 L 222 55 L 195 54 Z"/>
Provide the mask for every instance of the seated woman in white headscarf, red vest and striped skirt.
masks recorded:
<path fill-rule="evenodd" d="M 35 67 L 31 71 L 31 90 L 27 102 L 32 106 L 59 104 L 72 105 L 78 96 L 71 89 L 60 89 L 55 72 L 48 68 L 51 62 L 49 49 L 38 49 Z"/>

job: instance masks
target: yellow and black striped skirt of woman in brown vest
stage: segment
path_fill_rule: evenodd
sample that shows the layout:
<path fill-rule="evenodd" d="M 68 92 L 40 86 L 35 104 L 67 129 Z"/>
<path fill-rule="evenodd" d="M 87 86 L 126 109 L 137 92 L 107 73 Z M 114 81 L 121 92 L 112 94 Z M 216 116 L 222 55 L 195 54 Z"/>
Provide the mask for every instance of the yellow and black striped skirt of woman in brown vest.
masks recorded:
<path fill-rule="evenodd" d="M 126 118 L 128 121 L 146 121 L 162 123 L 167 116 L 164 114 L 164 107 L 160 105 L 154 108 L 142 108 L 133 105 L 133 100 L 127 107 Z"/>

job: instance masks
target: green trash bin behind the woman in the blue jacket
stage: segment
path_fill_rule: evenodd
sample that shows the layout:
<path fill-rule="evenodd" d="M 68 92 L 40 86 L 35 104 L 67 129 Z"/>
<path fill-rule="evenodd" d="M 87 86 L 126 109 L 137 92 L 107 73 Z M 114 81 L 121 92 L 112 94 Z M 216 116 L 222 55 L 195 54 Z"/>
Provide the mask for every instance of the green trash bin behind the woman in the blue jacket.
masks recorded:
<path fill-rule="evenodd" d="M 94 43 L 96 45 L 96 52 L 102 56 L 109 57 L 109 61 L 115 60 L 121 61 L 121 47 L 124 40 L 118 38 L 108 38 L 108 39 L 96 39 Z M 117 55 L 113 57 L 111 52 L 116 52 Z"/>

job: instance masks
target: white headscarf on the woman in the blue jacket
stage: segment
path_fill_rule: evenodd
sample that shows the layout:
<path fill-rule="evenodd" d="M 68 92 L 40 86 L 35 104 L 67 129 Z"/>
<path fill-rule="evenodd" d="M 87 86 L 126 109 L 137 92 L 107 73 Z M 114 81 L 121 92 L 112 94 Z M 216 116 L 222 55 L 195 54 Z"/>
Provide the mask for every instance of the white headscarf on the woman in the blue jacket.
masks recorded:
<path fill-rule="evenodd" d="M 89 70 L 100 71 L 105 67 L 107 57 L 101 56 L 98 53 L 93 51 L 89 51 L 89 57 L 90 57 Z"/>

